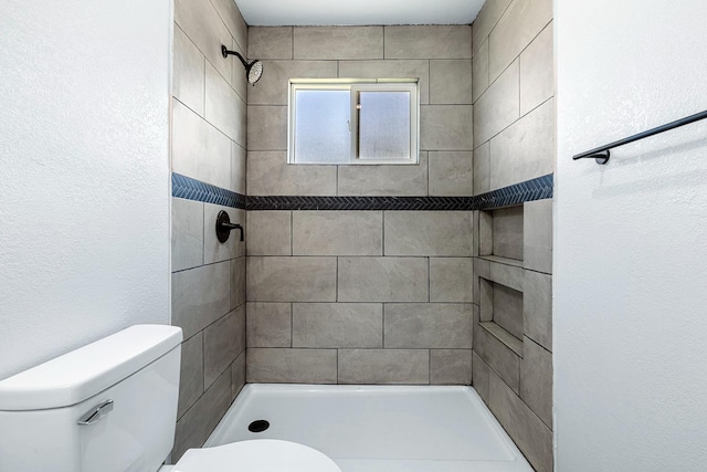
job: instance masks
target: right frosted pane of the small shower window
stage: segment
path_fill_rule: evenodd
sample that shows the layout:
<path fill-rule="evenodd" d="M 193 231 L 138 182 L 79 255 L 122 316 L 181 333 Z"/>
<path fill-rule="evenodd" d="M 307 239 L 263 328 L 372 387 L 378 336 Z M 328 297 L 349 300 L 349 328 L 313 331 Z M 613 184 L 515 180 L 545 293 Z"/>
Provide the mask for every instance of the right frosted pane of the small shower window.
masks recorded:
<path fill-rule="evenodd" d="M 410 158 L 410 92 L 359 92 L 360 159 Z"/>

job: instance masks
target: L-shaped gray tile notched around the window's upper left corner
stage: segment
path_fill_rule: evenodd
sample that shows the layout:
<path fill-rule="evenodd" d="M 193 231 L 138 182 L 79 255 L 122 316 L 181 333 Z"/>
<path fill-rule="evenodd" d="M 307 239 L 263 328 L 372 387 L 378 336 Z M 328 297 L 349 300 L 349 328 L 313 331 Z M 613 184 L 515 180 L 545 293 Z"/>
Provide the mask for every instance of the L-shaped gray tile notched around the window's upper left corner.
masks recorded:
<path fill-rule="evenodd" d="M 335 78 L 336 61 L 263 61 L 267 71 L 257 82 L 257 86 L 249 87 L 249 105 L 287 105 L 291 78 Z"/>

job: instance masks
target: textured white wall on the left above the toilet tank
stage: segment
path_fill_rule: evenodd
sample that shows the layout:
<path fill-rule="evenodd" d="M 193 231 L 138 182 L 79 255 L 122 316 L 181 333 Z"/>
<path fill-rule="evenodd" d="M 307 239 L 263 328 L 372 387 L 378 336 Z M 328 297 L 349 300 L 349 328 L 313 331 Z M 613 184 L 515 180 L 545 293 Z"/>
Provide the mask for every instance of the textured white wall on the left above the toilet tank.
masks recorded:
<path fill-rule="evenodd" d="M 0 378 L 169 322 L 169 0 L 0 0 Z"/>

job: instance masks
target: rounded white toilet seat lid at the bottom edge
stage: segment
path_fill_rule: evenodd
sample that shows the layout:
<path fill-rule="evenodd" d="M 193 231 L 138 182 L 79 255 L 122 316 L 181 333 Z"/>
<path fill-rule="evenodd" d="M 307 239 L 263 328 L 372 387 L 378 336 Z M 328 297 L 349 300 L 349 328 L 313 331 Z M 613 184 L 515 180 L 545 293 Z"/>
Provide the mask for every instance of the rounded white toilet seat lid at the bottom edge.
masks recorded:
<path fill-rule="evenodd" d="M 215 448 L 190 449 L 172 472 L 341 472 L 328 457 L 304 444 L 254 439 Z"/>

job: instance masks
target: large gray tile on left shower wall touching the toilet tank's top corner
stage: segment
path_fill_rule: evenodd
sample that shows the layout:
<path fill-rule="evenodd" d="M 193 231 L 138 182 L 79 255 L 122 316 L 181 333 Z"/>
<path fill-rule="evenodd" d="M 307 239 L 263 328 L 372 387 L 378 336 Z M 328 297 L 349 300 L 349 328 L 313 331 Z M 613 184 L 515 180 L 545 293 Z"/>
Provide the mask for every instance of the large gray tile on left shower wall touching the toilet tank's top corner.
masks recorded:
<path fill-rule="evenodd" d="M 193 336 L 230 311 L 230 263 L 203 265 L 172 274 L 172 325 Z"/>

